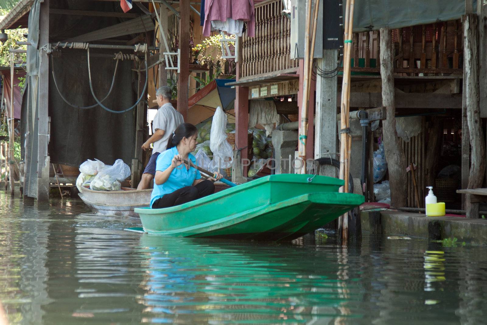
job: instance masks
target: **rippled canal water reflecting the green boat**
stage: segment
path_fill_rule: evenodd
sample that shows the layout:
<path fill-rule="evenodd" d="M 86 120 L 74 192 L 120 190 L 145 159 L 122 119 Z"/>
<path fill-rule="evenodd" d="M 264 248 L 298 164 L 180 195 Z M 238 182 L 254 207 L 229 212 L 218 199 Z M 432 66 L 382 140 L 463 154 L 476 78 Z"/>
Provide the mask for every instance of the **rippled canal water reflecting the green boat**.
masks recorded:
<path fill-rule="evenodd" d="M 276 244 L 124 231 L 81 201 L 0 192 L 10 324 L 486 324 L 487 250 L 332 237 Z"/>

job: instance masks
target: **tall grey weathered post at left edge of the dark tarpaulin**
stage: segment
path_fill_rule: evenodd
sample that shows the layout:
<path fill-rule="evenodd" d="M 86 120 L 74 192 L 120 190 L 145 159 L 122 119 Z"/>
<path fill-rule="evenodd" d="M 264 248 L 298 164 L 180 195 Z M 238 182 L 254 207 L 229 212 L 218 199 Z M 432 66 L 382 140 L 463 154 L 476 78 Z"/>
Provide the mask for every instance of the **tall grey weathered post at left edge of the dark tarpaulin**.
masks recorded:
<path fill-rule="evenodd" d="M 40 4 L 39 11 L 39 44 L 49 43 L 49 1 Z M 49 204 L 49 57 L 47 51 L 39 49 L 39 99 L 38 99 L 38 144 L 37 144 L 37 206 L 45 207 Z"/>

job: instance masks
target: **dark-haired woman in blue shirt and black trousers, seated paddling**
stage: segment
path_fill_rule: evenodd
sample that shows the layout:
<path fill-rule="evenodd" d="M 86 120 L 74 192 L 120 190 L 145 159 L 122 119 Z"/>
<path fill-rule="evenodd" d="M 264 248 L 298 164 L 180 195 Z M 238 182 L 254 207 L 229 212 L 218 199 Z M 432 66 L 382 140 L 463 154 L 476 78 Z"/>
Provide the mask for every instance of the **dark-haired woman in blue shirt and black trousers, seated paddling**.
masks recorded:
<path fill-rule="evenodd" d="M 154 189 L 150 197 L 152 209 L 168 208 L 193 201 L 212 194 L 216 177 L 204 180 L 194 167 L 187 166 L 184 160 L 191 160 L 196 165 L 196 158 L 191 154 L 198 142 L 198 129 L 190 123 L 182 123 L 169 137 L 167 150 L 157 157 Z"/>

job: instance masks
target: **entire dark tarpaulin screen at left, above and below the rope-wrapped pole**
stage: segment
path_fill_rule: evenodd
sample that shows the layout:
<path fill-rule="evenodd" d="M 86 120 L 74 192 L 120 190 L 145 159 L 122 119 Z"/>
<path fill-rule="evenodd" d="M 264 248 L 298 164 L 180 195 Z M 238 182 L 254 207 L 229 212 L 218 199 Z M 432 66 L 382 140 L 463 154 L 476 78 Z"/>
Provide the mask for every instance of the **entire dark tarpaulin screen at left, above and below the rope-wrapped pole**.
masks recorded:
<path fill-rule="evenodd" d="M 103 1 L 56 1 L 53 8 L 120 12 L 120 3 Z M 140 12 L 134 8 L 134 12 Z M 113 17 L 87 17 L 71 15 L 50 16 L 50 39 L 53 42 L 112 26 L 127 19 Z M 134 38 L 128 35 L 126 38 Z M 91 49 L 91 72 L 95 95 L 104 98 L 112 83 L 115 60 L 97 57 L 97 54 L 113 56 L 117 50 Z M 124 53 L 133 53 L 125 51 Z M 89 106 L 95 103 L 88 82 L 87 51 L 61 49 L 61 57 L 54 57 L 54 70 L 61 94 L 71 103 Z M 49 116 L 51 137 L 49 155 L 52 163 L 79 166 L 87 159 L 100 159 L 112 164 L 116 159 L 131 165 L 135 153 L 136 108 L 123 114 L 112 114 L 97 106 L 89 110 L 67 105 L 59 96 L 54 84 L 50 64 Z M 103 102 L 108 108 L 121 111 L 137 100 L 137 73 L 133 61 L 118 64 L 111 95 Z"/>

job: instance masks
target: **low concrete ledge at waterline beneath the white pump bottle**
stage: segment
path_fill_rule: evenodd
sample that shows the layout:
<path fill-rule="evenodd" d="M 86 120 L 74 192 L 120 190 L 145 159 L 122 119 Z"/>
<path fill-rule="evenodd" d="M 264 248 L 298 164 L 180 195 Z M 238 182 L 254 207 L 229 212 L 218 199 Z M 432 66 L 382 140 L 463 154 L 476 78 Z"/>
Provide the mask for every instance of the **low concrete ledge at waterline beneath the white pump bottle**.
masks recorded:
<path fill-rule="evenodd" d="M 459 242 L 487 246 L 487 219 L 427 217 L 402 211 L 361 212 L 362 232 L 430 240 L 457 238 Z"/>

